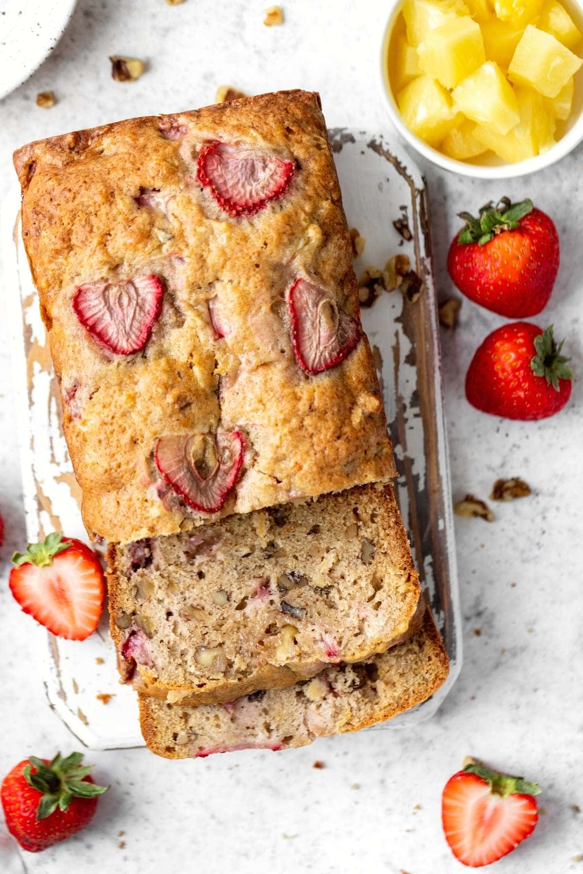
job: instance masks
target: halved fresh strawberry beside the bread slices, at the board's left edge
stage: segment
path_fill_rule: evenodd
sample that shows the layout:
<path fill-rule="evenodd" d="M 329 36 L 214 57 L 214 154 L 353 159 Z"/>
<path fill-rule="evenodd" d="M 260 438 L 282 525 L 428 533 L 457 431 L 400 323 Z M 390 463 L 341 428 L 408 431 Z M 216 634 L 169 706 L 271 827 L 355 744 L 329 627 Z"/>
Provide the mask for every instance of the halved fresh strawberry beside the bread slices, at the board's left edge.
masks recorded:
<path fill-rule="evenodd" d="M 94 551 L 74 538 L 49 534 L 15 552 L 10 590 L 24 613 L 70 641 L 84 641 L 100 621 L 105 580 Z"/>

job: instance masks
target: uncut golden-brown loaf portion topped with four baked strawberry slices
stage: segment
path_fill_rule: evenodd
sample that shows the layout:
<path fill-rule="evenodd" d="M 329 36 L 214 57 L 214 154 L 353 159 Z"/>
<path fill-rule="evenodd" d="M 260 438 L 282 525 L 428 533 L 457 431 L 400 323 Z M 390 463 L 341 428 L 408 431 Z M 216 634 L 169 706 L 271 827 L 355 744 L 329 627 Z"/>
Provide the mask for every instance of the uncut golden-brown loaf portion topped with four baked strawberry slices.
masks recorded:
<path fill-rule="evenodd" d="M 120 121 L 14 160 L 92 537 L 392 478 L 317 94 Z"/>

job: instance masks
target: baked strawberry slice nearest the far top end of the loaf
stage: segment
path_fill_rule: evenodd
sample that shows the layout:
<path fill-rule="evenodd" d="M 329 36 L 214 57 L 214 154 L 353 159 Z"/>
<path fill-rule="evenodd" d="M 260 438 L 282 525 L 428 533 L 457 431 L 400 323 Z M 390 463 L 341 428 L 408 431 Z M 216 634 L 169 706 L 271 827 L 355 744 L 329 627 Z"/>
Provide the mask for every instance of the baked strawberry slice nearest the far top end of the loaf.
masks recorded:
<path fill-rule="evenodd" d="M 294 175 L 294 162 L 248 146 L 214 140 L 200 149 L 198 182 L 232 216 L 253 215 L 280 197 Z"/>

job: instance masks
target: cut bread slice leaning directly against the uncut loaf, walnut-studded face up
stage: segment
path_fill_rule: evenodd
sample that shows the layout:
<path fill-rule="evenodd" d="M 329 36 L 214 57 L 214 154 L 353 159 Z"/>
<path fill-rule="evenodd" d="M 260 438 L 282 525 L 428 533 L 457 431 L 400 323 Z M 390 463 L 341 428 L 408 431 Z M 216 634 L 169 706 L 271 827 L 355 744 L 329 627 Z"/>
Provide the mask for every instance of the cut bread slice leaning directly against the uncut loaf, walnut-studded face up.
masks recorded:
<path fill-rule="evenodd" d="M 108 565 L 122 678 L 170 703 L 229 702 L 385 652 L 420 596 L 386 485 L 111 545 Z"/>

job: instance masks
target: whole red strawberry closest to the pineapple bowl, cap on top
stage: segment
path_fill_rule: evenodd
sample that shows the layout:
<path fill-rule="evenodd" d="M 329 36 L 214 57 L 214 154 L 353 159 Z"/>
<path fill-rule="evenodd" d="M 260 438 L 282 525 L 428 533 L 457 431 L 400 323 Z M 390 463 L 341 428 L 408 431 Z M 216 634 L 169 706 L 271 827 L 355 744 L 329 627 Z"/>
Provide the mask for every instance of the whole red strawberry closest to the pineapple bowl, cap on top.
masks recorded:
<path fill-rule="evenodd" d="M 536 316 L 559 270 L 559 234 L 531 200 L 482 206 L 480 218 L 460 212 L 465 227 L 453 240 L 448 272 L 470 301 L 507 318 Z"/>

